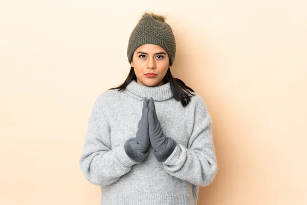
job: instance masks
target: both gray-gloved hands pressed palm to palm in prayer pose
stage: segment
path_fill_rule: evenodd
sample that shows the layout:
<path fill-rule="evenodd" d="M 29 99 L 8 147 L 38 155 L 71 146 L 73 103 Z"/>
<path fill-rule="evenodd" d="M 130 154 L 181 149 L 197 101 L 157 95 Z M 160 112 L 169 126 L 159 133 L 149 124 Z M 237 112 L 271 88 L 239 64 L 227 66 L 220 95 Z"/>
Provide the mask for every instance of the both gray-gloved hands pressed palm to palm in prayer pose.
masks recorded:
<path fill-rule="evenodd" d="M 144 98 L 138 131 L 131 143 L 135 149 L 143 154 L 147 152 L 151 145 L 155 150 L 155 157 L 160 162 L 165 161 L 177 145 L 175 140 L 163 134 L 152 97 L 150 99 Z"/>

